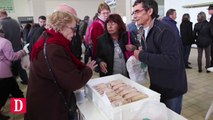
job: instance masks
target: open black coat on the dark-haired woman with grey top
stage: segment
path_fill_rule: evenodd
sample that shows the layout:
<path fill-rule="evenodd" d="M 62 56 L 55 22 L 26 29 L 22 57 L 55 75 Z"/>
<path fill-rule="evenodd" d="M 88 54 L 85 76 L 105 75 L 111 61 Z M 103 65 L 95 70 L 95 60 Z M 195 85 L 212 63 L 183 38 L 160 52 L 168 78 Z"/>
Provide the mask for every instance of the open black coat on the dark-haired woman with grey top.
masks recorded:
<path fill-rule="evenodd" d="M 130 35 L 130 40 L 133 45 L 136 47 L 139 46 L 139 43 L 134 39 L 134 36 Z M 119 37 L 118 44 L 125 56 L 125 45 L 128 44 L 128 34 L 127 32 L 122 33 Z M 113 74 L 113 63 L 114 63 L 114 43 L 111 36 L 108 33 L 104 33 L 99 39 L 97 43 L 97 56 L 96 61 L 98 65 L 100 62 L 104 61 L 107 64 L 107 73 L 103 73 L 100 71 L 100 76 L 108 76 Z M 125 58 L 126 61 L 126 58 Z"/>

